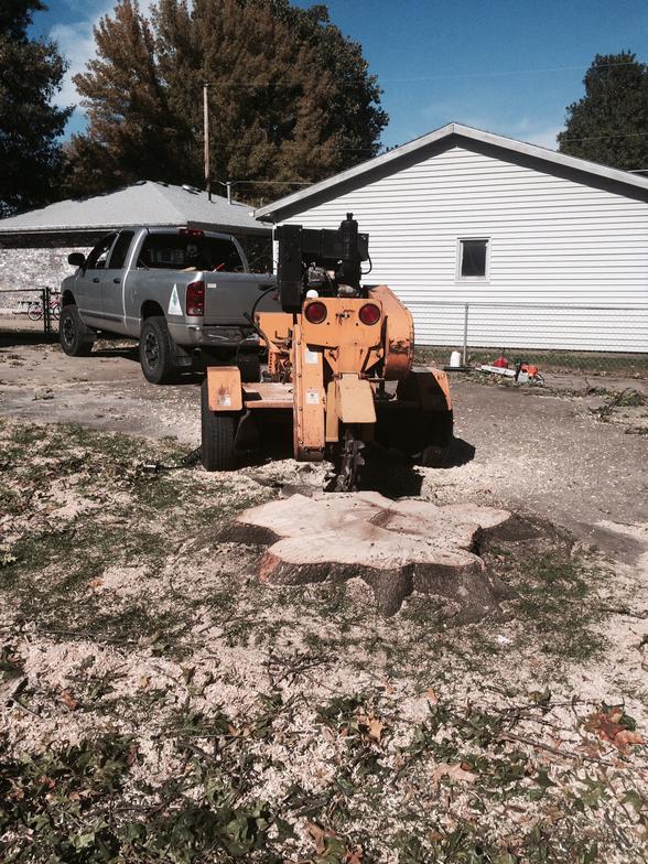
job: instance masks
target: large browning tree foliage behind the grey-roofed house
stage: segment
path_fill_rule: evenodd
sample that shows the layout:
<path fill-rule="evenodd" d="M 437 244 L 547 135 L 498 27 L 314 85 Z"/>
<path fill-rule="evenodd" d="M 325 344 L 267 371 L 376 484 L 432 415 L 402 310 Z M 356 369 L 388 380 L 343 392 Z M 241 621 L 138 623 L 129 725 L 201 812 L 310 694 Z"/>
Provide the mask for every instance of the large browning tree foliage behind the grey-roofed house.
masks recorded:
<path fill-rule="evenodd" d="M 203 84 L 212 175 L 277 197 L 377 152 L 387 115 L 359 44 L 325 7 L 289 0 L 121 0 L 75 84 L 88 110 L 69 147 L 74 192 L 138 179 L 203 183 Z M 266 183 L 268 181 L 268 183 Z M 280 185 L 287 184 L 287 185 Z"/>

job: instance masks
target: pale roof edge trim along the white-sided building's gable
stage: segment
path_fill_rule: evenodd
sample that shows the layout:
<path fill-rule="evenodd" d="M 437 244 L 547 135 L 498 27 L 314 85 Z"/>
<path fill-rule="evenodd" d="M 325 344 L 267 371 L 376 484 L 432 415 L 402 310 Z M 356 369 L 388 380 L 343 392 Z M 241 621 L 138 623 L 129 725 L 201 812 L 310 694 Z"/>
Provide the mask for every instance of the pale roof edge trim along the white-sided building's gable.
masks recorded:
<path fill-rule="evenodd" d="M 474 129 L 471 126 L 446 123 L 446 126 L 442 126 L 440 129 L 435 129 L 433 132 L 422 136 L 421 138 L 415 138 L 407 144 L 397 147 L 388 153 L 374 156 L 374 159 L 361 162 L 359 165 L 354 165 L 354 168 L 342 171 L 339 174 L 335 174 L 327 180 L 315 183 L 305 190 L 279 198 L 279 201 L 276 201 L 273 204 L 268 204 L 266 207 L 259 207 L 255 210 L 255 216 L 258 219 L 278 222 L 282 218 L 280 214 L 284 214 L 287 210 L 299 213 L 307 209 L 312 198 L 330 199 L 334 197 L 336 188 L 343 184 L 348 184 L 349 181 L 355 181 L 355 184 L 361 185 L 363 179 L 366 179 L 364 175 L 367 175 L 370 172 L 378 172 L 380 170 L 382 176 L 393 173 L 399 170 L 401 166 L 400 163 L 407 158 L 411 160 L 412 158 L 415 158 L 415 154 L 419 151 L 425 151 L 425 149 L 432 148 L 433 145 L 447 143 L 450 147 L 452 145 L 453 140 L 465 145 L 468 150 L 471 149 L 471 144 L 473 144 L 473 147 L 486 144 L 499 148 L 503 151 L 508 151 L 511 155 L 517 154 L 518 156 L 540 160 L 547 163 L 548 168 L 553 165 L 560 166 L 563 170 L 571 169 L 584 174 L 590 174 L 593 177 L 595 176 L 613 183 L 625 184 L 627 187 L 648 190 L 648 177 L 630 174 L 628 171 L 619 171 L 615 168 L 600 165 L 596 162 L 588 162 L 585 159 L 569 156 L 544 147 L 528 144 L 525 141 L 516 141 L 512 138 L 505 138 L 503 136 L 494 134 L 493 132 L 485 132 L 482 129 Z M 421 159 L 424 158 L 423 153 L 421 153 Z"/>

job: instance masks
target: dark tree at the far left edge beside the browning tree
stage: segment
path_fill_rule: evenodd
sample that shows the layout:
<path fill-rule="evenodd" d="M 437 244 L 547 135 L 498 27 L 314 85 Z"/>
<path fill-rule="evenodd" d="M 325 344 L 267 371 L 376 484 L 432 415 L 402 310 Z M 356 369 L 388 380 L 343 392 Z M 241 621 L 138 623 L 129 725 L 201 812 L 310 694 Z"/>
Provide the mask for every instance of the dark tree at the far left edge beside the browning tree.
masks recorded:
<path fill-rule="evenodd" d="M 30 40 L 40 0 L 0 7 L 0 216 L 56 196 L 62 153 L 57 141 L 72 108 L 57 108 L 66 63 L 53 42 Z"/>

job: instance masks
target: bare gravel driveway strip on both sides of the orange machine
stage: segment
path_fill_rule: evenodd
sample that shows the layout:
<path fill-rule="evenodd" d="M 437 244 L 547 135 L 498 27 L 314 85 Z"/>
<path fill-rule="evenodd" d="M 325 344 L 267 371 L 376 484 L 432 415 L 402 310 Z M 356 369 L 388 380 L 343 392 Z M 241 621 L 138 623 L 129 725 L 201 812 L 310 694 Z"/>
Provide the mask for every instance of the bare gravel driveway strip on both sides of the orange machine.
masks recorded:
<path fill-rule="evenodd" d="M 201 380 L 188 375 L 182 385 L 152 387 L 128 345 L 105 343 L 83 359 L 57 345 L 0 348 L 4 417 L 172 436 L 190 447 L 199 444 Z M 440 503 L 468 496 L 551 519 L 637 562 L 646 551 L 648 402 L 615 409 L 608 422 L 597 411 L 626 388 L 648 397 L 648 381 L 569 374 L 549 375 L 544 390 L 488 382 L 453 376 L 455 435 L 474 457 L 425 474 L 422 494 Z"/>

